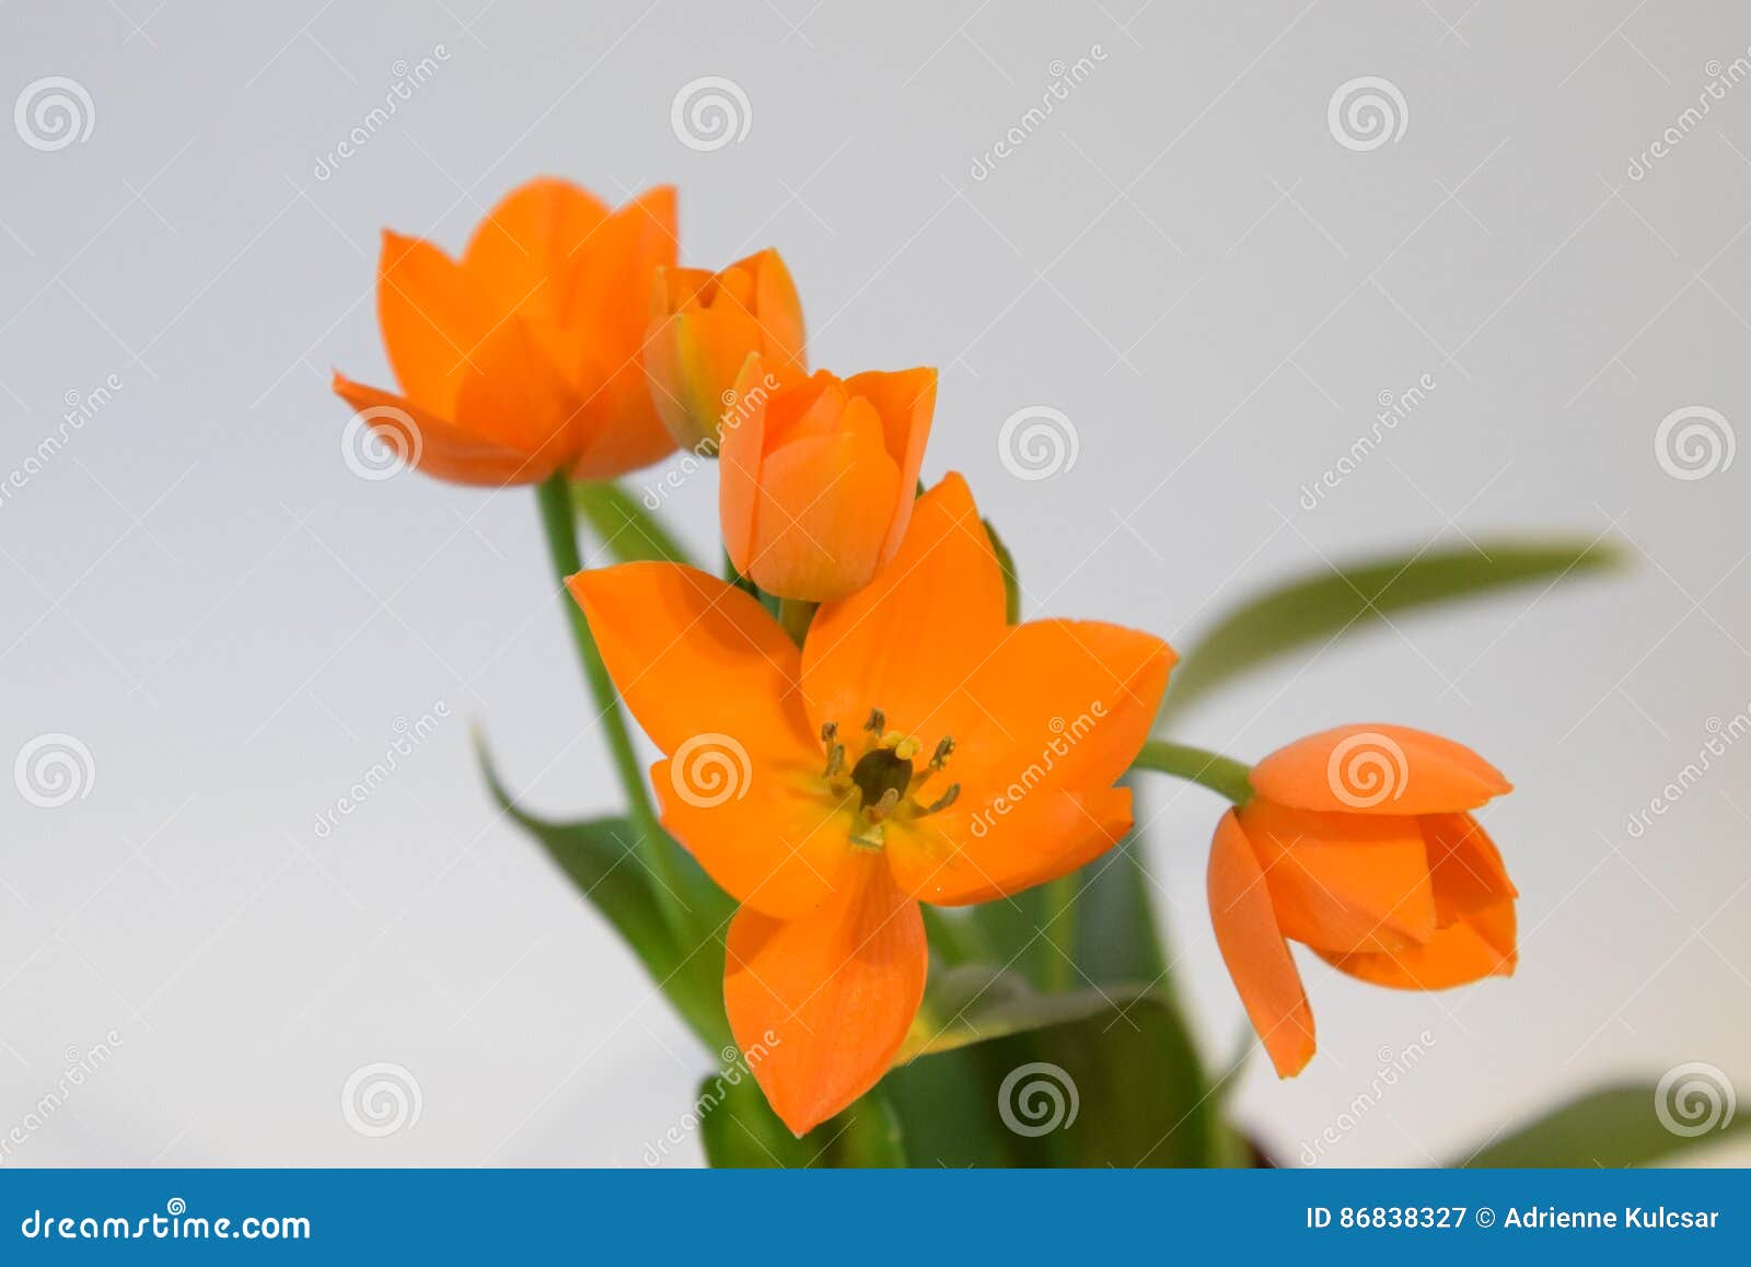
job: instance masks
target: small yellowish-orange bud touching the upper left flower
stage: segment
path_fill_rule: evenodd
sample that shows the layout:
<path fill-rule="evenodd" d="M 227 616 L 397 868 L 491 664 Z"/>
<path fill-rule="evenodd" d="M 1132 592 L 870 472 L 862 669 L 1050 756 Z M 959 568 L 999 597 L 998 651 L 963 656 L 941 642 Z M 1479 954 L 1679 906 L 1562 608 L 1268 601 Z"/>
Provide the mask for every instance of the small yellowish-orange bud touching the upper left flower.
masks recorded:
<path fill-rule="evenodd" d="M 721 273 L 702 268 L 657 271 L 655 322 L 644 350 L 651 399 L 678 444 L 716 439 L 735 404 L 735 376 L 758 352 L 779 385 L 800 382 L 802 303 L 776 250 L 762 250 Z"/>

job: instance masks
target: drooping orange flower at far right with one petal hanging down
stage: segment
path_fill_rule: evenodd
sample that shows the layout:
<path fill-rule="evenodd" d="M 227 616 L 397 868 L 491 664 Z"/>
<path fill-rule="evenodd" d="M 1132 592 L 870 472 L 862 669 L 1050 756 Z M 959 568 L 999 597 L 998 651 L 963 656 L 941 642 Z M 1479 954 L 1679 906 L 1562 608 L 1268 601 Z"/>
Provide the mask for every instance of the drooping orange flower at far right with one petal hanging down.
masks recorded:
<path fill-rule="evenodd" d="M 1518 892 L 1469 814 L 1511 788 L 1469 747 L 1340 726 L 1259 761 L 1252 788 L 1215 830 L 1210 920 L 1278 1076 L 1313 1057 L 1287 940 L 1408 990 L 1513 973 Z"/>

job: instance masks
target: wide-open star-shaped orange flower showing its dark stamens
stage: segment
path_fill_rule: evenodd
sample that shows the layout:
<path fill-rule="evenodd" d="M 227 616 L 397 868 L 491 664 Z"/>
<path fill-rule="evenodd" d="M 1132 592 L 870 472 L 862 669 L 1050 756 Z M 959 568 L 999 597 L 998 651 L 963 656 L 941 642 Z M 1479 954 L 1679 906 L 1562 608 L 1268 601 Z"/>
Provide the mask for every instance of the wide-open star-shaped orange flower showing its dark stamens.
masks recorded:
<path fill-rule="evenodd" d="M 802 1134 L 888 1069 L 925 990 L 919 901 L 1051 880 L 1131 824 L 1114 788 L 1173 651 L 1093 621 L 1003 621 L 960 476 L 798 651 L 742 590 L 674 564 L 571 578 L 608 670 L 667 752 L 664 826 L 742 903 L 723 999 Z M 763 1040 L 770 1029 L 776 1041 Z"/>

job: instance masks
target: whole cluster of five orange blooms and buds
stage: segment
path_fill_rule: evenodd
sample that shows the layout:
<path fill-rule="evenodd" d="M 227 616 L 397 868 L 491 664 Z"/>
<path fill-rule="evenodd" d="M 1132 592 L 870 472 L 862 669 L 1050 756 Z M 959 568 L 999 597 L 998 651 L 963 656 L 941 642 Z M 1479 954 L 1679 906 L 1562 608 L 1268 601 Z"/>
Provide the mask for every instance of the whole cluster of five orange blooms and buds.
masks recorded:
<path fill-rule="evenodd" d="M 1315 1052 L 1290 942 L 1399 989 L 1513 971 L 1516 892 L 1473 817 L 1509 791 L 1494 766 L 1380 723 L 1250 768 L 1152 740 L 1175 651 L 1094 620 L 1017 623 L 965 480 L 919 480 L 935 369 L 811 373 L 776 250 L 706 271 L 676 243 L 672 189 L 611 210 L 553 178 L 501 201 L 459 259 L 385 233 L 401 390 L 334 390 L 431 476 L 538 488 L 636 858 L 676 929 L 671 838 L 737 903 L 693 933 L 721 942 L 730 1032 L 760 1048 L 751 1071 L 793 1132 L 916 1050 L 925 906 L 1100 859 L 1133 826 L 1131 770 L 1233 802 L 1210 919 L 1278 1074 Z M 716 458 L 725 574 L 583 569 L 574 485 L 678 446 Z M 664 754 L 650 788 L 622 709 Z"/>

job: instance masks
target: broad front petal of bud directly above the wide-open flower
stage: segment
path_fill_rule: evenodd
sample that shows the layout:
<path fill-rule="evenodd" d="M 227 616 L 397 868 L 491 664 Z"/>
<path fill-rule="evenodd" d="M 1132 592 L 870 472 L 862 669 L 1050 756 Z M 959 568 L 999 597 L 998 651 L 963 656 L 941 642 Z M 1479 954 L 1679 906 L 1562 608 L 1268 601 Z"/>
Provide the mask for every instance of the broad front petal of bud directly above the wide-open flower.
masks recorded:
<path fill-rule="evenodd" d="M 762 464 L 748 576 L 784 598 L 844 598 L 874 576 L 900 494 L 881 418 L 851 401 L 839 430 L 793 439 Z"/>

